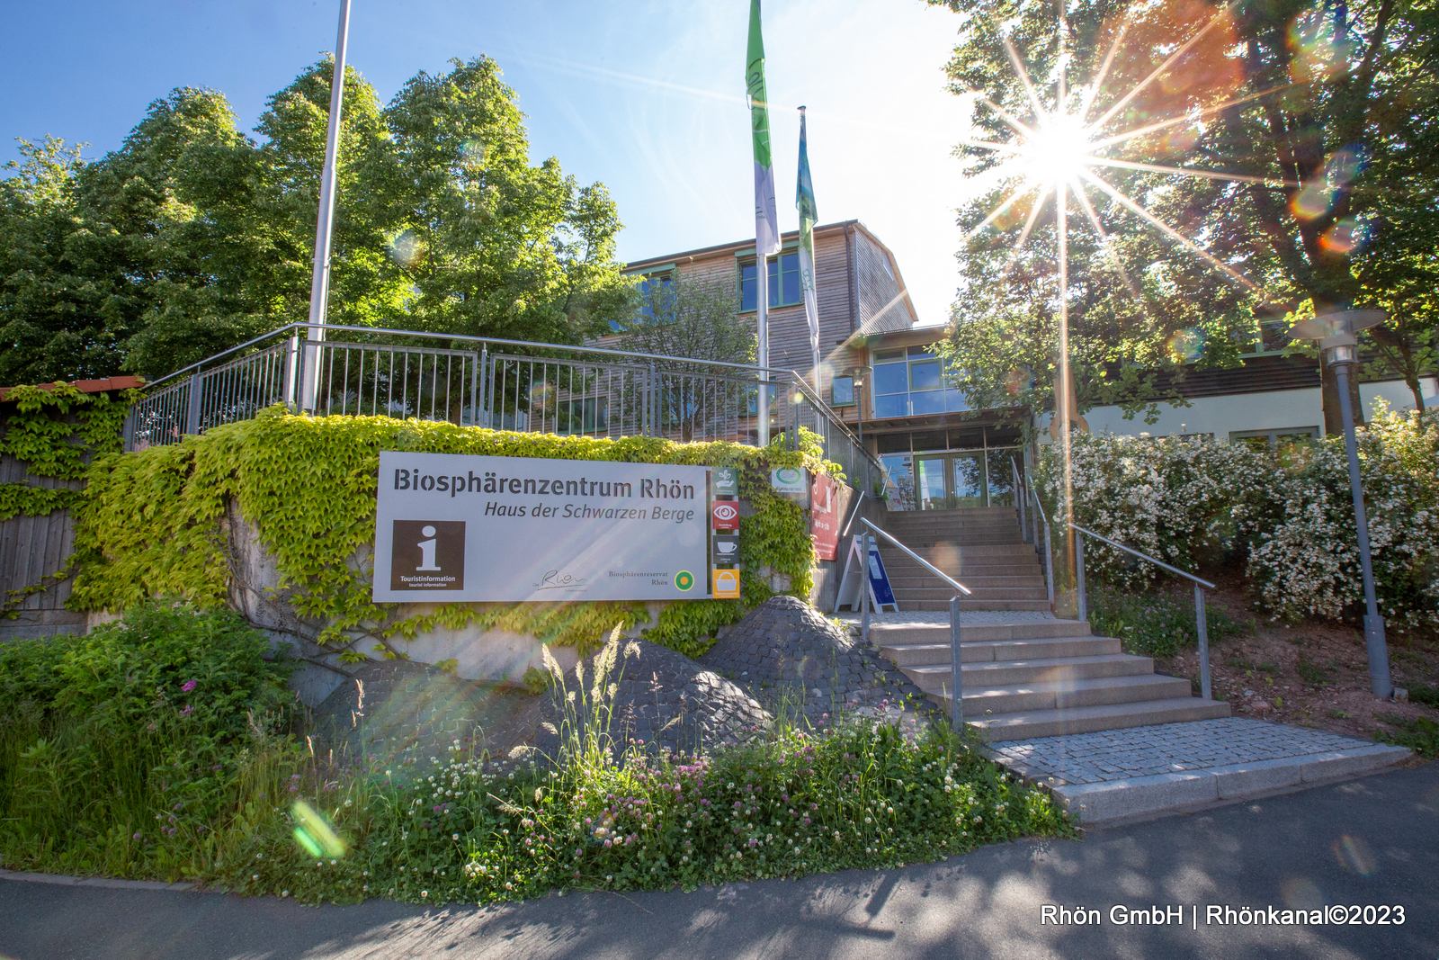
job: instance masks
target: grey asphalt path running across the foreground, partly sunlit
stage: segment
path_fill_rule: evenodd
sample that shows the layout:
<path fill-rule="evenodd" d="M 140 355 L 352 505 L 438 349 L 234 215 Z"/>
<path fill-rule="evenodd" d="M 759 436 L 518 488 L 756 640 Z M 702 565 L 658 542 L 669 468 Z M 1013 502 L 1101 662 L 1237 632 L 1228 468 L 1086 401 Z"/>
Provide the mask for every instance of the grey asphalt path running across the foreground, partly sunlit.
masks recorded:
<path fill-rule="evenodd" d="M 1097 910 L 1099 923 L 1043 923 L 1046 905 Z M 1265 920 L 1269 907 L 1374 907 L 1376 921 L 1377 908 L 1396 920 L 1402 907 L 1404 923 L 1225 925 L 1207 923 L 1210 905 L 1263 908 Z M 1115 907 L 1158 907 L 1166 918 L 1177 908 L 1183 921 L 1117 924 Z M 1363 911 L 1357 918 L 1366 920 Z M 1439 960 L 1439 764 L 1091 830 L 1082 841 L 1006 843 L 904 869 L 692 894 L 315 908 L 273 897 L 0 879 L 0 957 Z"/>

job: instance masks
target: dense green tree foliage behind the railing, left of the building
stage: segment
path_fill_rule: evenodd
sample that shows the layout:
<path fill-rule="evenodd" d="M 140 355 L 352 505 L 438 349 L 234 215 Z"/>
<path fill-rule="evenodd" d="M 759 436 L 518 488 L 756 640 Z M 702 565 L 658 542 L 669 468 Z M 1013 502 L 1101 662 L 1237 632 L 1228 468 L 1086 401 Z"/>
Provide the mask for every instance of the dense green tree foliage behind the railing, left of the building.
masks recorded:
<path fill-rule="evenodd" d="M 94 163 L 22 141 L 0 180 L 0 381 L 147 376 L 308 317 L 330 58 L 256 137 L 181 88 Z M 328 320 L 577 343 L 632 296 L 603 184 L 530 163 L 488 58 L 381 105 L 347 69 Z"/>

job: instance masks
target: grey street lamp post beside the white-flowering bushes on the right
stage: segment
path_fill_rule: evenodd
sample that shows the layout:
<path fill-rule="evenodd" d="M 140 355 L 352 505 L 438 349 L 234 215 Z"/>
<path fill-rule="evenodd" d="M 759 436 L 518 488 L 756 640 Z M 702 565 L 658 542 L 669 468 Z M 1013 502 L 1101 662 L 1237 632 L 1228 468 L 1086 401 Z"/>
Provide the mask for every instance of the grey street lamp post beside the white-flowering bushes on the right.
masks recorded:
<path fill-rule="evenodd" d="M 1376 697 L 1389 698 L 1394 688 L 1389 679 L 1389 648 L 1384 617 L 1374 593 L 1374 566 L 1368 547 L 1368 518 L 1364 514 L 1364 486 L 1358 475 L 1358 445 L 1354 440 L 1354 409 L 1348 396 L 1348 371 L 1357 361 L 1354 334 L 1380 324 L 1387 314 L 1380 309 L 1345 309 L 1322 314 L 1295 324 L 1291 337 L 1320 341 L 1324 363 L 1334 368 L 1338 381 L 1340 416 L 1344 420 L 1344 449 L 1348 453 L 1350 494 L 1354 497 L 1354 527 L 1358 530 L 1358 563 L 1364 576 L 1364 645 L 1368 648 L 1368 682 Z"/>

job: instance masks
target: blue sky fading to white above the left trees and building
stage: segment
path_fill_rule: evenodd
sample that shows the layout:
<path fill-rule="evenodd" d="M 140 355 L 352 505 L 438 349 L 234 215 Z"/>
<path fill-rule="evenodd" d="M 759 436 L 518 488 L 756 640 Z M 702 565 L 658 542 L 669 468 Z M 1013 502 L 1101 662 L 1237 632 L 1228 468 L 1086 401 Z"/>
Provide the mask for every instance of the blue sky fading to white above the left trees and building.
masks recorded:
<path fill-rule="evenodd" d="M 265 98 L 334 49 L 338 0 L 46 0 L 0 35 L 0 160 L 14 137 L 115 148 L 176 86 L 224 92 L 252 128 Z M 754 235 L 744 52 L 748 0 L 353 0 L 350 63 L 389 99 L 419 71 L 488 53 L 527 115 L 531 158 L 609 186 L 640 259 Z M 968 107 L 941 68 L 958 19 L 921 0 L 768 0 L 780 222 L 796 107 L 809 108 L 820 222 L 858 217 L 895 252 L 922 322 L 954 295 Z M 344 197 L 340 197 L 344 203 Z"/>

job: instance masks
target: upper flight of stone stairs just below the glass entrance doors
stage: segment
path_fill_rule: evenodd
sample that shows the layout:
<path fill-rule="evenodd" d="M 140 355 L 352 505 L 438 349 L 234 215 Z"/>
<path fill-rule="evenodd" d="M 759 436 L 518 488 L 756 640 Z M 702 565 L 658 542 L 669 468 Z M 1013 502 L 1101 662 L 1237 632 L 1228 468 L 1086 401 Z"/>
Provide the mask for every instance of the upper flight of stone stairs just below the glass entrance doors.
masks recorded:
<path fill-rule="evenodd" d="M 886 530 L 973 596 L 961 610 L 1048 610 L 1045 569 L 1025 543 L 1012 507 L 892 512 Z M 879 537 L 879 556 L 901 610 L 948 610 L 954 589 Z"/>

